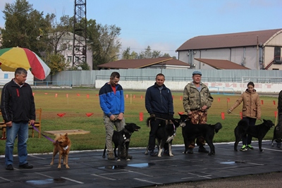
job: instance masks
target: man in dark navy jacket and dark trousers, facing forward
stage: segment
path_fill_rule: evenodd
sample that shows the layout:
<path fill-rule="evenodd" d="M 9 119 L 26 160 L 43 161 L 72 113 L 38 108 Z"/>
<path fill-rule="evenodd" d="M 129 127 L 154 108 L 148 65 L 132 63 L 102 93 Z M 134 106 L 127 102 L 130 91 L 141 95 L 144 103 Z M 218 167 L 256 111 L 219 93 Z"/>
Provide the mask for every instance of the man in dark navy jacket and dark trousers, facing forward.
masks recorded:
<path fill-rule="evenodd" d="M 156 76 L 156 82 L 149 87 L 145 95 L 145 107 L 151 117 L 155 117 L 151 121 L 151 130 L 149 132 L 149 152 L 151 156 L 157 156 L 154 152 L 156 145 L 156 132 L 158 130 L 160 119 L 173 118 L 173 99 L 171 90 L 164 85 L 165 77 L 159 73 Z M 164 145 L 164 154 L 168 152 L 168 144 Z"/>

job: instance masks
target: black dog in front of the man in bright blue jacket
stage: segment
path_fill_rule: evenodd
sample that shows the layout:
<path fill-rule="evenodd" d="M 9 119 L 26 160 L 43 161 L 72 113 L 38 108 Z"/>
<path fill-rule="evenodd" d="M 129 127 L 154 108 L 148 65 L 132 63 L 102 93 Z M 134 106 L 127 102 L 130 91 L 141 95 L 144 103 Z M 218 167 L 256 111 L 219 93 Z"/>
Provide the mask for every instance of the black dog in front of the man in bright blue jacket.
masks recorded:
<path fill-rule="evenodd" d="M 125 159 L 126 161 L 130 161 L 130 158 L 128 158 L 128 147 L 130 143 L 130 137 L 131 134 L 135 131 L 139 131 L 141 127 L 136 125 L 135 123 L 126 123 L 124 126 L 123 130 L 121 131 L 116 131 L 114 130 L 113 134 L 113 142 L 114 142 L 114 154 L 115 157 L 118 157 L 118 161 L 121 161 L 121 146 L 125 146 Z M 118 148 L 118 155 L 116 155 L 116 149 Z M 105 158 L 105 153 L 106 153 L 106 146 L 103 152 L 103 158 Z"/>

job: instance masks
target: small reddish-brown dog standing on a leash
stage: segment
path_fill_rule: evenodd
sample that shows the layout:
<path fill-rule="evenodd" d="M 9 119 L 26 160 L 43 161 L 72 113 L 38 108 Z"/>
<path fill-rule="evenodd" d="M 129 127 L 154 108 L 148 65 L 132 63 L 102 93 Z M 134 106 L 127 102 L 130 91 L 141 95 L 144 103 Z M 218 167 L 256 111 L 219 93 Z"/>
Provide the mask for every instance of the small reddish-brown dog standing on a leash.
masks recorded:
<path fill-rule="evenodd" d="M 66 134 L 57 134 L 54 140 L 54 150 L 53 150 L 53 158 L 50 165 L 54 164 L 54 158 L 56 153 L 59 152 L 59 165 L 58 168 L 61 168 L 61 158 L 63 157 L 63 165 L 66 165 L 66 168 L 70 168 L 68 166 L 68 153 L 70 153 L 71 149 L 71 139 L 68 138 L 68 133 Z"/>

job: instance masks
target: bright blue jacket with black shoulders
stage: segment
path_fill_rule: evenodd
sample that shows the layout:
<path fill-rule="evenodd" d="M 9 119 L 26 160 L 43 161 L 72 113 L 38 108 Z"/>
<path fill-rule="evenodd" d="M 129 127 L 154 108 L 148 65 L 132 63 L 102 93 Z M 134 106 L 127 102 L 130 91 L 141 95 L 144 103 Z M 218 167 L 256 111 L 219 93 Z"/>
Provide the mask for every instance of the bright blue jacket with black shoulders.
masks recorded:
<path fill-rule="evenodd" d="M 112 114 L 124 113 L 123 87 L 116 85 L 116 94 L 114 94 L 111 84 L 106 82 L 99 90 L 100 106 L 104 114 L 110 117 Z"/>

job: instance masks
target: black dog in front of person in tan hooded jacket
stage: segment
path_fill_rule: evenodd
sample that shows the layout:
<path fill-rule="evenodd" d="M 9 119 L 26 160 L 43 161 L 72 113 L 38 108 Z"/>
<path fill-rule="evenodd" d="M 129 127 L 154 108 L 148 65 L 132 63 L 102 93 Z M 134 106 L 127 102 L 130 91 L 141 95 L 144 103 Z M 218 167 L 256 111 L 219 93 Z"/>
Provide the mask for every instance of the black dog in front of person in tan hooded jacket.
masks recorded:
<path fill-rule="evenodd" d="M 262 139 L 264 139 L 265 134 L 270 130 L 271 127 L 274 126 L 271 120 L 264 120 L 262 124 L 249 126 L 249 124 L 245 120 L 240 120 L 238 122 L 237 127 L 235 127 L 235 144 L 234 150 L 238 151 L 237 146 L 242 137 L 245 134 L 250 134 L 252 137 L 255 137 L 259 140 L 259 151 L 263 151 L 262 149 Z"/>

